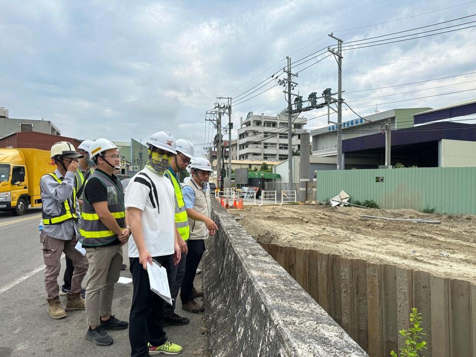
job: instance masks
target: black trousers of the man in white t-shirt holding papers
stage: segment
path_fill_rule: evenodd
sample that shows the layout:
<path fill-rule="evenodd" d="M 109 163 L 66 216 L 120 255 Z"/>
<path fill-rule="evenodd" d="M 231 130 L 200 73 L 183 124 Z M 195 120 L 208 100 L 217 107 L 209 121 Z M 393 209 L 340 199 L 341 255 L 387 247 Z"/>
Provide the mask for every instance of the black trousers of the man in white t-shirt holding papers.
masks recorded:
<path fill-rule="evenodd" d="M 153 257 L 167 269 L 169 286 L 171 285 L 174 255 Z M 129 315 L 129 342 L 131 357 L 149 357 L 147 343 L 152 346 L 163 345 L 167 341 L 164 331 L 164 304 L 162 297 L 150 290 L 149 275 L 139 258 L 129 258 L 132 274 L 132 305 Z"/>

